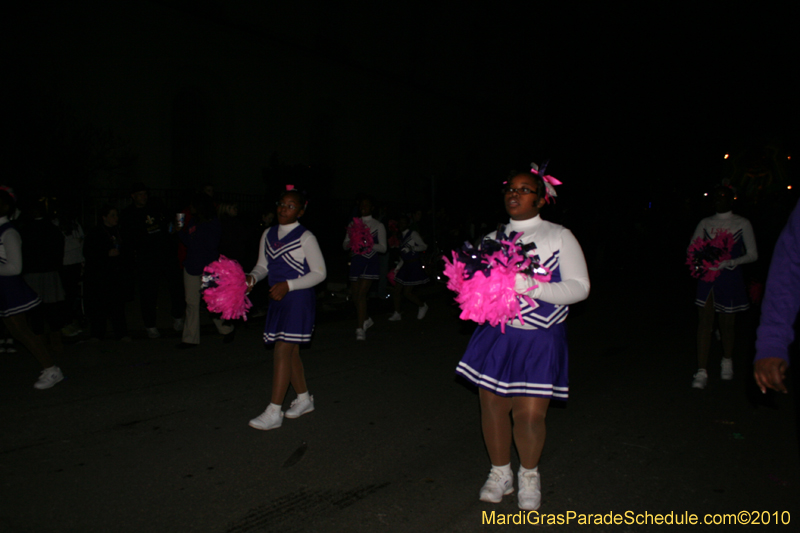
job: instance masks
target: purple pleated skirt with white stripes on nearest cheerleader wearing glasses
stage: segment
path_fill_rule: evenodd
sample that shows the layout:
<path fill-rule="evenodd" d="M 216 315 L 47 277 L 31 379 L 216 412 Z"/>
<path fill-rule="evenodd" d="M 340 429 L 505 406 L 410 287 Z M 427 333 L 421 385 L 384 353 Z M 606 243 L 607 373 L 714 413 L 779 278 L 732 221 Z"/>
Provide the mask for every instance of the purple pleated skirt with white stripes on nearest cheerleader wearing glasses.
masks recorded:
<path fill-rule="evenodd" d="M 499 396 L 569 396 L 568 353 L 564 323 L 549 328 L 479 326 L 456 373 Z"/>

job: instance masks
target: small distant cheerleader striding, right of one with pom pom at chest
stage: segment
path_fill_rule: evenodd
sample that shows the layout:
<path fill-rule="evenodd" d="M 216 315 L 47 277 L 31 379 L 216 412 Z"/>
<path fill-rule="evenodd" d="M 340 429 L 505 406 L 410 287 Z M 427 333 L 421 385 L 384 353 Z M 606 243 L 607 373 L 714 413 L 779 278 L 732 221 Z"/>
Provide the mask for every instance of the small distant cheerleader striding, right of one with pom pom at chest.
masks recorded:
<path fill-rule="evenodd" d="M 428 304 L 414 294 L 414 288 L 428 283 L 428 276 L 422 268 L 421 257 L 421 252 L 427 250 L 428 245 L 425 244 L 419 233 L 409 229 L 408 217 L 405 215 L 397 220 L 397 230 L 400 234 L 400 264 L 394 276 L 394 314 L 389 317 L 389 320 L 402 320 L 400 307 L 404 297 L 419 307 L 417 319 L 422 320 L 428 312 Z"/>

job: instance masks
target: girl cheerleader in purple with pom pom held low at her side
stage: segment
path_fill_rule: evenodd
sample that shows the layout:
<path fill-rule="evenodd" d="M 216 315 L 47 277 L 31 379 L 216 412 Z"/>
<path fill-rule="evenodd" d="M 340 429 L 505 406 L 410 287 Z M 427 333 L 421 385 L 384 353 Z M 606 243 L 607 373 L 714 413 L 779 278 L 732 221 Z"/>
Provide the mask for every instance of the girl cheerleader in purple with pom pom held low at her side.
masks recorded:
<path fill-rule="evenodd" d="M 313 287 L 326 276 L 325 260 L 317 239 L 297 222 L 303 216 L 305 195 L 287 186 L 278 201 L 278 224 L 264 231 L 258 263 L 247 275 L 247 290 L 269 274 L 269 297 L 264 326 L 264 343 L 275 345 L 272 399 L 250 427 L 262 430 L 281 426 L 284 416 L 298 418 L 314 410 L 314 397 L 308 394 L 300 345 L 311 342 L 314 330 L 316 294 Z M 291 383 L 297 398 L 289 409 L 281 405 Z"/>

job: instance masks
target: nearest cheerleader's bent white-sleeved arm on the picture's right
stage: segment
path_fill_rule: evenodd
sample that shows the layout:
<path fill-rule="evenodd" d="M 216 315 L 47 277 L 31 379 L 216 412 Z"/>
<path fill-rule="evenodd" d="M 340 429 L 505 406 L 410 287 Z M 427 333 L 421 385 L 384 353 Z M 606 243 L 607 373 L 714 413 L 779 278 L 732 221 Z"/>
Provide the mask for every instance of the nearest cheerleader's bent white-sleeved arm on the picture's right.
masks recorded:
<path fill-rule="evenodd" d="M 578 239 L 568 229 L 561 232 L 559 257 L 561 281 L 557 283 L 537 282 L 539 286 L 531 293 L 534 300 L 557 305 L 570 305 L 589 296 L 589 271 Z"/>

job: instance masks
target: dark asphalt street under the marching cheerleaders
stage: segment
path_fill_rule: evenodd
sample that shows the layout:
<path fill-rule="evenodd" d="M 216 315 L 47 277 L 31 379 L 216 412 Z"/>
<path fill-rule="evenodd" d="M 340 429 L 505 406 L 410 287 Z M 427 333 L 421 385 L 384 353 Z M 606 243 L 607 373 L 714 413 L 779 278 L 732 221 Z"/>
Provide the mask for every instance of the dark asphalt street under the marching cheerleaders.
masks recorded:
<path fill-rule="evenodd" d="M 548 415 L 541 513 L 768 511 L 774 523 L 788 511 L 791 525 L 777 530 L 800 523 L 797 391 L 761 403 L 750 394 L 754 311 L 739 321 L 734 380 L 712 371 L 706 390 L 692 389 L 689 285 L 662 284 L 649 309 L 633 306 L 636 283 L 620 294 L 596 282 L 573 308 L 570 400 Z M 470 328 L 441 286 L 428 292 L 423 321 L 409 308 L 388 322 L 373 300 L 376 325 L 362 343 L 351 309 L 326 303 L 302 352 L 316 411 L 268 432 L 247 425 L 269 400 L 263 319 L 228 345 L 206 326 L 188 351 L 174 349 L 166 315 L 160 339 L 70 345 L 59 357 L 67 379 L 47 391 L 32 388 L 31 356 L 6 354 L 0 530 L 502 530 L 482 519 L 517 513 L 516 498 L 478 501 L 489 461 L 477 394 L 454 377 Z M 548 530 L 684 529 L 577 520 Z M 535 526 L 514 529 L 526 527 Z"/>

